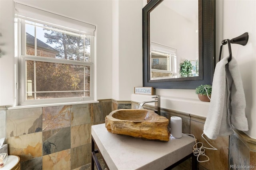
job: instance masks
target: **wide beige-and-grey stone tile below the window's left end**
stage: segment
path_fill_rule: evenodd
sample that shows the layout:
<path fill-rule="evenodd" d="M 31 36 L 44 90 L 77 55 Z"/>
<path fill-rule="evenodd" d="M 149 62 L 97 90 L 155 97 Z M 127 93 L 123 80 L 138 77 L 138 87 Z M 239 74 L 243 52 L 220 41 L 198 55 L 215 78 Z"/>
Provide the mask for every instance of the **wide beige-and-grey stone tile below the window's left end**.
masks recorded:
<path fill-rule="evenodd" d="M 6 137 L 42 131 L 42 108 L 6 110 Z"/>

